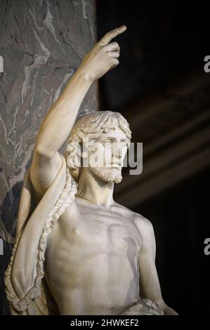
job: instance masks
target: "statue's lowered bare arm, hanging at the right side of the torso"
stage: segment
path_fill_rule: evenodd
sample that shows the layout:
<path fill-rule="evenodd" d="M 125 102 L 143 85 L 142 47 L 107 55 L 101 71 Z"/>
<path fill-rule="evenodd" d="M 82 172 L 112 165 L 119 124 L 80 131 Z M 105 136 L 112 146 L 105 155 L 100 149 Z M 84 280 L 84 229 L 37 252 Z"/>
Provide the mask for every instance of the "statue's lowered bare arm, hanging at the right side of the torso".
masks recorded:
<path fill-rule="evenodd" d="M 138 265 L 140 272 L 140 298 L 154 301 L 164 311 L 164 315 L 177 315 L 175 310 L 164 303 L 159 285 L 157 269 L 155 265 L 155 235 L 152 223 L 145 218 L 138 218 L 136 224 L 143 238 L 143 246 L 140 249 Z"/>

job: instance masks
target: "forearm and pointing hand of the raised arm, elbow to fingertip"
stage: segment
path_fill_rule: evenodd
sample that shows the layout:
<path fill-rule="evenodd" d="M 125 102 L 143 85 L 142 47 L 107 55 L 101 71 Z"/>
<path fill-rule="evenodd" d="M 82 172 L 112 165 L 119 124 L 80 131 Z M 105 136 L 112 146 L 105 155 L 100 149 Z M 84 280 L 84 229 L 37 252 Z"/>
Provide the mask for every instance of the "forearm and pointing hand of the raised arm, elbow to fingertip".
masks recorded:
<path fill-rule="evenodd" d="M 55 104 L 48 110 L 37 135 L 35 149 L 39 154 L 49 157 L 60 149 L 70 134 L 88 88 L 93 81 L 118 65 L 119 45 L 109 42 L 126 30 L 123 25 L 108 32 L 86 54 L 81 66 L 74 74 Z"/>

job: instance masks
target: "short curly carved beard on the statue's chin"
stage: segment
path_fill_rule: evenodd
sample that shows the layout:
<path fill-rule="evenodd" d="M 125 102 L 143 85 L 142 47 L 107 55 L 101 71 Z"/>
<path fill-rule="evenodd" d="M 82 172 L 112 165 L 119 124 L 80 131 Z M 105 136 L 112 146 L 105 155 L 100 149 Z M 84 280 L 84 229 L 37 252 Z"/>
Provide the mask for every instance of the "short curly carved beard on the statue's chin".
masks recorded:
<path fill-rule="evenodd" d="M 91 166 L 90 166 L 91 167 Z M 97 178 L 107 183 L 120 183 L 122 181 L 121 171 L 117 169 L 104 169 L 103 167 L 91 167 L 91 171 Z"/>

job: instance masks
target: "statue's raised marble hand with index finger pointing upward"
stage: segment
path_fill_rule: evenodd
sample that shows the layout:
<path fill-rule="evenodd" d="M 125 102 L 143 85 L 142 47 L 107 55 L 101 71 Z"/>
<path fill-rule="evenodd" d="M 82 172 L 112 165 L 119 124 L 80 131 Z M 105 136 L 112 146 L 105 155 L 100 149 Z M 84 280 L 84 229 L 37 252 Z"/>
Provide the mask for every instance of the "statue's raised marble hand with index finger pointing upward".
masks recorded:
<path fill-rule="evenodd" d="M 125 30 L 126 26 L 122 25 L 122 27 L 117 27 L 117 29 L 108 32 L 87 53 L 79 67 L 79 70 L 84 73 L 86 79 L 93 82 L 119 64 L 119 45 L 117 42 L 110 43 L 110 41 L 119 34 L 122 34 Z"/>

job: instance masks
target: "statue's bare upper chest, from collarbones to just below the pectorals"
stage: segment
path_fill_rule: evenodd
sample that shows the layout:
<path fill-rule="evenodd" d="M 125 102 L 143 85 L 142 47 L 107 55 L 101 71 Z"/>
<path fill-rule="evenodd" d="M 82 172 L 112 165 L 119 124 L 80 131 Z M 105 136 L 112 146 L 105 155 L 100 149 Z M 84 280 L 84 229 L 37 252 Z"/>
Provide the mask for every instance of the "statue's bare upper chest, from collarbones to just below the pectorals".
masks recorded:
<path fill-rule="evenodd" d="M 76 203 L 60 216 L 52 236 L 54 242 L 59 237 L 60 247 L 63 246 L 64 250 L 74 252 L 77 249 L 82 254 L 96 251 L 133 251 L 136 254 L 142 244 L 140 232 L 129 213 Z"/>

